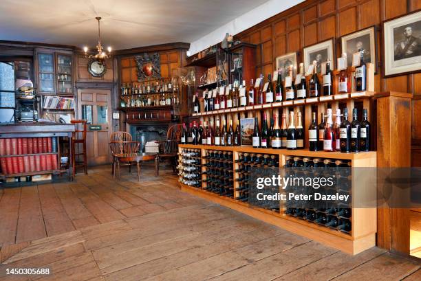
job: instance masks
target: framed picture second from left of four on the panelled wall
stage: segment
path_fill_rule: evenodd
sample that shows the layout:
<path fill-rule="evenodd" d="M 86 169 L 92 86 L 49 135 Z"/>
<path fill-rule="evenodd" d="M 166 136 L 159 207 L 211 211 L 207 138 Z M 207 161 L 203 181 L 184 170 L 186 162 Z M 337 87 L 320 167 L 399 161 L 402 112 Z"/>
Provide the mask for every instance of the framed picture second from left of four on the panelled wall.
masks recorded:
<path fill-rule="evenodd" d="M 321 65 L 325 63 L 326 60 L 331 60 L 332 64 L 330 67 L 335 69 L 336 58 L 334 54 L 334 38 L 305 47 L 303 49 L 303 54 L 304 71 L 307 71 L 308 66 L 311 65 L 314 60 L 317 61 L 317 73 L 321 73 Z"/>

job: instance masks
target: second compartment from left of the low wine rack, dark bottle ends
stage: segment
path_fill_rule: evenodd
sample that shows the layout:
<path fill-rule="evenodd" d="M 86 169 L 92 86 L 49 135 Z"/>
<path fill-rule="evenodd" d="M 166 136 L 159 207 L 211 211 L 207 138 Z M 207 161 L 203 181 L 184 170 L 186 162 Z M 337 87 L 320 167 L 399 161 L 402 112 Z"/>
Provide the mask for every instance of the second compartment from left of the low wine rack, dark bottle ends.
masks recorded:
<path fill-rule="evenodd" d="M 203 189 L 220 196 L 234 197 L 233 153 L 222 150 L 206 150 Z"/>

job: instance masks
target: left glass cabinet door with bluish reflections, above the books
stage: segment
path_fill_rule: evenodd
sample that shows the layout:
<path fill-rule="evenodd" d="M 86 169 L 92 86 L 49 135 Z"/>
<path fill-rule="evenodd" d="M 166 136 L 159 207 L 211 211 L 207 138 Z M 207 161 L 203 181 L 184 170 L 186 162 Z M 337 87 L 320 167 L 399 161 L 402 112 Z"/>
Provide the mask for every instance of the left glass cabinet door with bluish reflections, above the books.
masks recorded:
<path fill-rule="evenodd" d="M 38 91 L 55 93 L 54 54 L 38 53 Z"/>

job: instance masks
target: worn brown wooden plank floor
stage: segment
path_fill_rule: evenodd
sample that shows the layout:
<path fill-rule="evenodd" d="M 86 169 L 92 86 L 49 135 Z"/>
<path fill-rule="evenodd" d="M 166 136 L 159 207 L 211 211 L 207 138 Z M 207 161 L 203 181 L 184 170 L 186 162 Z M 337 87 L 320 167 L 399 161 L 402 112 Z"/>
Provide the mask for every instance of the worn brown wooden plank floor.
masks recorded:
<path fill-rule="evenodd" d="M 349 256 L 177 189 L 168 170 L 109 167 L 3 190 L 0 280 L 421 280 L 420 263 Z M 48 276 L 10 276 L 43 267 Z"/>

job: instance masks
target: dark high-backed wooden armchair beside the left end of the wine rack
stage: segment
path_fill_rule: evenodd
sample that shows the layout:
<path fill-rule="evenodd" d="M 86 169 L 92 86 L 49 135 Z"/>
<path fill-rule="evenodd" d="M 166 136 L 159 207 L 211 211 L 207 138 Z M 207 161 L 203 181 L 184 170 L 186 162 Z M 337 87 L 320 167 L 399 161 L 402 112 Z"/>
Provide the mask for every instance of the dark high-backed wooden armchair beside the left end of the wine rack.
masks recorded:
<path fill-rule="evenodd" d="M 158 153 L 158 166 L 156 168 L 157 175 L 159 175 L 160 172 L 160 159 L 169 159 L 170 164 L 173 167 L 173 172 L 176 172 L 178 144 L 180 144 L 181 133 L 182 124 L 175 124 L 169 127 L 166 132 L 166 140 L 158 142 L 160 152 Z"/>

